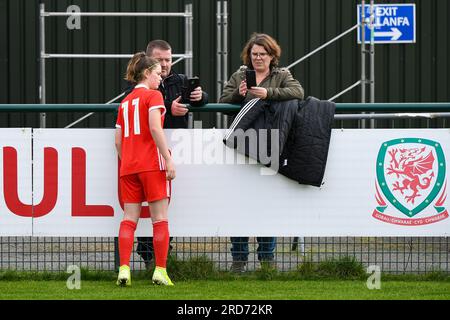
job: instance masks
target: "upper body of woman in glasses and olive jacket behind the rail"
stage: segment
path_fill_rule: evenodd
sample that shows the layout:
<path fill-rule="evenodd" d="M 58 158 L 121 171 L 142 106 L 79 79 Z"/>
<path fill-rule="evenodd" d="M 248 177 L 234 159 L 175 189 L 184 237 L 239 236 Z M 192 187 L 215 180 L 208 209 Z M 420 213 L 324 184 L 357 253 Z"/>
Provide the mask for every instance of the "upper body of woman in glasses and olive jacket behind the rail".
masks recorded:
<path fill-rule="evenodd" d="M 303 99 L 300 83 L 286 68 L 279 68 L 281 48 L 271 36 L 254 33 L 241 53 L 244 65 L 227 82 L 219 99 L 221 103 L 242 104 L 254 98 L 267 100 Z M 245 71 L 256 72 L 256 87 L 247 89 Z"/>

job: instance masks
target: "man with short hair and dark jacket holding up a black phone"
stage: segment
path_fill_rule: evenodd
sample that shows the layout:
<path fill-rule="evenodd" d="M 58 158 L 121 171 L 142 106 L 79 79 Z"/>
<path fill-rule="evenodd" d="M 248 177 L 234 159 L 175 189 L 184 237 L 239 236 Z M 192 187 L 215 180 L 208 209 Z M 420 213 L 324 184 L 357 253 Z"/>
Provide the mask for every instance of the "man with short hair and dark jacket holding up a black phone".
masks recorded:
<path fill-rule="evenodd" d="M 161 64 L 161 85 L 159 91 L 163 94 L 166 115 L 164 128 L 188 127 L 188 108 L 186 104 L 199 107 L 208 103 L 208 94 L 200 86 L 193 88 L 190 95 L 188 78 L 172 70 L 172 47 L 164 40 L 153 40 L 147 45 L 146 55 Z M 172 237 L 170 238 L 172 240 Z M 169 250 L 172 246 L 169 246 Z M 152 267 L 153 238 L 138 237 L 136 252 L 142 257 L 147 270 Z"/>

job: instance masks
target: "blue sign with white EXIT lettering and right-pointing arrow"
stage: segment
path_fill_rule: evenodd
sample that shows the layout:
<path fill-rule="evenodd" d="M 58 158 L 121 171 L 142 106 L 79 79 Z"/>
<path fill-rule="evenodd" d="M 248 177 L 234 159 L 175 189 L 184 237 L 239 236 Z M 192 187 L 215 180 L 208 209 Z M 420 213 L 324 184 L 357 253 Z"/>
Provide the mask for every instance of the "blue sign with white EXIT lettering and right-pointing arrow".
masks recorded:
<path fill-rule="evenodd" d="M 362 22 L 361 5 L 358 5 L 358 22 Z M 370 5 L 365 5 L 365 36 L 370 42 Z M 414 3 L 375 4 L 373 6 L 374 43 L 415 43 L 416 5 Z M 361 27 L 358 28 L 358 43 L 361 43 Z"/>

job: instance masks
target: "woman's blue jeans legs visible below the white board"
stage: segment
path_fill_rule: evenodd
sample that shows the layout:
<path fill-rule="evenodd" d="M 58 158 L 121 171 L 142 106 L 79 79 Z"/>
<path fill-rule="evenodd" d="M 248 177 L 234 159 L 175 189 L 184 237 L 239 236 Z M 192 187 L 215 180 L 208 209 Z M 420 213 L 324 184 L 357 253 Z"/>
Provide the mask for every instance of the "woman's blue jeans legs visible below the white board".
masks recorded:
<path fill-rule="evenodd" d="M 248 237 L 231 237 L 231 256 L 233 261 L 247 261 L 248 260 Z M 268 261 L 274 259 L 273 251 L 276 246 L 275 237 L 257 237 L 259 261 Z"/>

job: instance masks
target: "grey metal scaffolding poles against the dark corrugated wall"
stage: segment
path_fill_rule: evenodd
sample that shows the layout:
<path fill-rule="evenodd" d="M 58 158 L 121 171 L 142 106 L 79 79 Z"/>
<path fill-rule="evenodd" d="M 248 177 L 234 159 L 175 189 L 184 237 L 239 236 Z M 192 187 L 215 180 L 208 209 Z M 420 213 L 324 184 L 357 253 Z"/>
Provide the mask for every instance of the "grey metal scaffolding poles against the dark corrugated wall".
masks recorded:
<path fill-rule="evenodd" d="M 226 81 L 228 80 L 228 1 L 218 0 L 216 7 L 216 93 L 217 97 L 220 97 L 222 89 Z M 364 8 L 366 4 L 365 0 L 361 0 L 361 7 Z M 337 93 L 328 100 L 333 101 L 339 96 L 345 94 L 346 92 L 354 89 L 357 86 L 361 86 L 361 102 L 366 102 L 366 85 L 370 85 L 370 102 L 375 102 L 375 46 L 374 46 L 374 15 L 373 15 L 374 0 L 370 0 L 370 17 L 365 16 L 365 10 L 362 10 L 361 22 L 352 26 L 348 30 L 337 35 L 333 39 L 327 41 L 320 47 L 314 49 L 310 53 L 296 60 L 295 62 L 288 65 L 286 68 L 290 69 L 297 65 L 298 63 L 306 60 L 320 50 L 326 48 L 330 44 L 339 40 L 343 36 L 352 32 L 353 30 L 361 27 L 361 79 L 345 88 L 341 92 Z M 185 74 L 190 77 L 193 74 L 193 9 L 192 4 L 187 4 L 185 6 L 185 12 L 45 12 L 44 4 L 40 4 L 40 84 L 39 84 L 39 98 L 40 103 L 46 103 L 46 89 L 45 89 L 45 59 L 58 59 L 58 58 L 120 58 L 129 59 L 132 54 L 57 54 L 57 53 L 47 53 L 45 52 L 45 17 L 54 16 L 86 16 L 86 17 L 182 17 L 185 19 L 185 53 L 184 54 L 173 54 L 174 58 L 178 58 L 173 64 L 178 63 L 181 60 L 186 60 L 185 64 Z M 370 37 L 370 49 L 366 49 L 365 41 L 365 25 L 369 24 L 369 29 L 371 30 Z M 370 54 L 370 76 L 367 80 L 366 75 L 366 54 Z M 119 95 L 114 99 L 108 101 L 107 103 L 112 103 L 122 96 Z M 66 126 L 70 128 L 73 125 L 81 122 L 82 120 L 91 116 L 93 112 L 81 117 L 75 122 Z M 40 114 L 40 125 L 45 127 L 45 113 Z M 221 112 L 216 113 L 216 127 L 226 128 L 228 125 L 228 116 Z M 375 126 L 374 118 L 370 120 L 370 127 Z M 361 120 L 361 128 L 365 128 L 365 120 Z M 193 128 L 193 114 L 189 113 L 189 128 Z"/>

